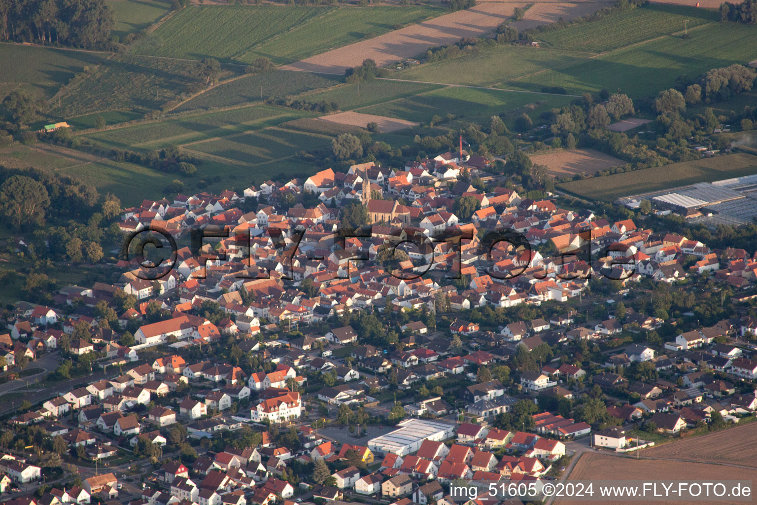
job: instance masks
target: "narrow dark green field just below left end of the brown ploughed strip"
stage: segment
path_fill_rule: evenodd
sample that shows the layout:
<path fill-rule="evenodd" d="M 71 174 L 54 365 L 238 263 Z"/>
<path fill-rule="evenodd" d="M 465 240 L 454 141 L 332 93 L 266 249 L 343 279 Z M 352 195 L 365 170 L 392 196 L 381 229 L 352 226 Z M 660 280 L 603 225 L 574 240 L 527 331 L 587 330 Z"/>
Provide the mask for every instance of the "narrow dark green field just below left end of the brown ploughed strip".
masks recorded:
<path fill-rule="evenodd" d="M 263 99 L 265 99 L 272 96 L 297 95 L 311 89 L 327 88 L 334 86 L 341 80 L 340 76 L 295 72 L 294 70 L 277 70 L 276 72 L 245 76 L 230 83 L 216 86 L 182 104 L 173 112 L 230 107 L 260 101 L 261 88 Z"/>

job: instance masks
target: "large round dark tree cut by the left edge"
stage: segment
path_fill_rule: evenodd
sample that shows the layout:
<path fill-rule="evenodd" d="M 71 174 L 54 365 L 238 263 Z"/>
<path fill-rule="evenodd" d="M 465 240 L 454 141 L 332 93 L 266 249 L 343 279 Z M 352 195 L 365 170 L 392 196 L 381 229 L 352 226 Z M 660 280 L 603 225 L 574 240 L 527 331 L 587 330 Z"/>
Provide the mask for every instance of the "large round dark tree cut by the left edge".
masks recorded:
<path fill-rule="evenodd" d="M 50 205 L 47 189 L 27 176 L 11 176 L 0 186 L 0 210 L 20 229 L 22 223 L 42 224 Z"/>

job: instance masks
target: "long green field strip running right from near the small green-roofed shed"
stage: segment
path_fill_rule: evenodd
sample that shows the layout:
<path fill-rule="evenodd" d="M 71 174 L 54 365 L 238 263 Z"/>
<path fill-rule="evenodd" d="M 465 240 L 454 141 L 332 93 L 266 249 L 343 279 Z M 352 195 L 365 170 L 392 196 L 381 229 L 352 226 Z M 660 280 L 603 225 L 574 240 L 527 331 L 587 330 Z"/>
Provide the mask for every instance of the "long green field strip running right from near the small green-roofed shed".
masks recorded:
<path fill-rule="evenodd" d="M 186 114 L 154 123 L 107 129 L 89 133 L 87 137 L 111 148 L 151 151 L 168 144 L 182 145 L 262 129 L 304 115 L 306 113 L 301 111 L 260 104 L 231 111 Z"/>

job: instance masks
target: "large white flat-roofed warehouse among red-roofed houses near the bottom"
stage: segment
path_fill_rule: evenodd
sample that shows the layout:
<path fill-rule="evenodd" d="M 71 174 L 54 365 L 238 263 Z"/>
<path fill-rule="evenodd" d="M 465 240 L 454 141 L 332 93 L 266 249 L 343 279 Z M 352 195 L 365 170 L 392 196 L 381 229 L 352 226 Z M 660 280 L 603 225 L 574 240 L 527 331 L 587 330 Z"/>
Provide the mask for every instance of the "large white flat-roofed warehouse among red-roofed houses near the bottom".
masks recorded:
<path fill-rule="evenodd" d="M 429 419 L 407 419 L 397 429 L 368 441 L 368 448 L 375 454 L 407 456 L 416 452 L 424 440 L 443 441 L 455 435 L 455 426 L 447 422 Z"/>

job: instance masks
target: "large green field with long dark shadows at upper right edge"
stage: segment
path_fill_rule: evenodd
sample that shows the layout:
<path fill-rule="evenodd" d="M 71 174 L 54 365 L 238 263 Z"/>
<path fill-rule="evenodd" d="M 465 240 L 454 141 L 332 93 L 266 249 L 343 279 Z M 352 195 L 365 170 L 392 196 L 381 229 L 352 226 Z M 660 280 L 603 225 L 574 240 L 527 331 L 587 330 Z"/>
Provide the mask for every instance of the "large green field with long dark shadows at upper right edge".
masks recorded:
<path fill-rule="evenodd" d="M 539 90 L 563 86 L 572 92 L 620 90 L 638 98 L 673 86 L 681 75 L 698 76 L 715 67 L 751 61 L 757 54 L 757 26 L 710 23 L 690 30 L 690 39 L 668 36 L 619 49 L 569 67 L 545 70 L 509 86 Z"/>

